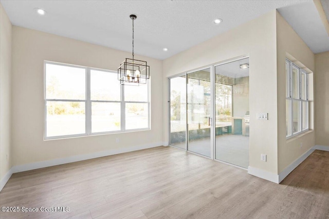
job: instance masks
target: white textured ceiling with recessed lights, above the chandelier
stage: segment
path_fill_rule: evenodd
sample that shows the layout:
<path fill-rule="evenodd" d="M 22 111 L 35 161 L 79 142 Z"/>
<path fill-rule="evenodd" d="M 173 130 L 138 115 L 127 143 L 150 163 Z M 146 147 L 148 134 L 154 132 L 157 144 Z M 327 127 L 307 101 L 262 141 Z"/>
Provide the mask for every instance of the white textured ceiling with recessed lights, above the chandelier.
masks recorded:
<path fill-rule="evenodd" d="M 57 34 L 123 51 L 132 50 L 132 20 L 136 14 L 135 53 L 168 58 L 273 9 L 313 4 L 294 1 L 5 1 L 0 0 L 13 25 Z M 42 8 L 46 15 L 36 14 Z M 288 7 L 293 10 L 294 7 Z M 279 10 L 285 16 L 285 10 Z M 294 11 L 294 10 L 293 10 Z M 300 13 L 291 20 L 299 19 Z M 307 17 L 319 16 L 314 10 Z M 214 25 L 213 19 L 223 23 Z M 305 20 L 303 20 L 305 21 Z M 306 39 L 313 35 L 303 23 Z M 319 28 L 318 26 L 316 26 Z M 300 29 L 300 28 L 297 28 Z M 321 28 L 320 28 L 321 29 Z M 324 29 L 324 27 L 323 27 Z M 296 30 L 297 31 L 297 30 Z M 316 32 L 320 30 L 316 30 Z M 301 37 L 303 34 L 299 33 Z M 323 37 L 322 33 L 320 34 Z M 318 38 L 317 38 L 318 39 Z M 304 39 L 305 41 L 305 39 Z M 305 41 L 306 42 L 306 41 Z M 321 42 L 326 42 L 321 41 Z M 314 52 L 315 42 L 306 42 Z M 329 44 L 328 44 L 329 46 Z M 163 48 L 168 48 L 164 52 Z M 322 47 L 321 47 L 322 48 Z M 320 48 L 320 50 L 321 50 Z M 326 48 L 327 51 L 329 48 Z"/>

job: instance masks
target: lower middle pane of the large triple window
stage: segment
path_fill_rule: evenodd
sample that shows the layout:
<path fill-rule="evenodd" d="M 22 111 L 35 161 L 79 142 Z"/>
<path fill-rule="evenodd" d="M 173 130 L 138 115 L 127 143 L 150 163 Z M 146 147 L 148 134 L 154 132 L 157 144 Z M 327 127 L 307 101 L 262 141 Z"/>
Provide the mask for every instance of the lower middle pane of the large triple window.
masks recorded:
<path fill-rule="evenodd" d="M 121 129 L 120 103 L 92 103 L 92 132 Z"/>

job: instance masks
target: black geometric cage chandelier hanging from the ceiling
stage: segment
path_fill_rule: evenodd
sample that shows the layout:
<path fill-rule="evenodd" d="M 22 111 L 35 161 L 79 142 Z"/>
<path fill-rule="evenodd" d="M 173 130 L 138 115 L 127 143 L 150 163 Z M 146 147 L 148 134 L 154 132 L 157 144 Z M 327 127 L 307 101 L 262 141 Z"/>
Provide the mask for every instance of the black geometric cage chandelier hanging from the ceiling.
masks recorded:
<path fill-rule="evenodd" d="M 118 80 L 121 85 L 146 84 L 150 78 L 150 66 L 147 62 L 134 58 L 134 20 L 137 18 L 135 14 L 131 14 L 133 20 L 133 58 L 125 58 L 118 68 Z"/>

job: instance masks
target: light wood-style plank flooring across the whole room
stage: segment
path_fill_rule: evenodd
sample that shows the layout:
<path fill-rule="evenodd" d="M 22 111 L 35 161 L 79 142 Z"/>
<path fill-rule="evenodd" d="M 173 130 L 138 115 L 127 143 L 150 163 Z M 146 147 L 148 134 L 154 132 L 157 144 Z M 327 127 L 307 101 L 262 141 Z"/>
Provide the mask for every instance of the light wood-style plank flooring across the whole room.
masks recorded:
<path fill-rule="evenodd" d="M 245 170 L 156 147 L 15 173 L 5 218 L 329 218 L 329 152 L 316 150 L 277 185 Z"/>

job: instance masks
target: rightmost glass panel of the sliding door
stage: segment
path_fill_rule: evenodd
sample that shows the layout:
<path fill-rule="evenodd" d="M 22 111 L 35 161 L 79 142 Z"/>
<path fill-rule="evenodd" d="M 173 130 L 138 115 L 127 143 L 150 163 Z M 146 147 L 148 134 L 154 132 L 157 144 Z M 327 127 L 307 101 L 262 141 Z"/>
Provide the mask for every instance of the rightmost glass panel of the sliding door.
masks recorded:
<path fill-rule="evenodd" d="M 249 166 L 249 58 L 215 66 L 215 159 Z"/>

